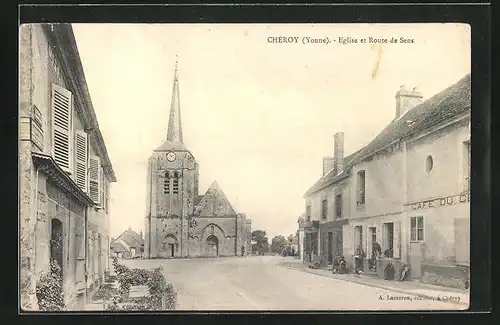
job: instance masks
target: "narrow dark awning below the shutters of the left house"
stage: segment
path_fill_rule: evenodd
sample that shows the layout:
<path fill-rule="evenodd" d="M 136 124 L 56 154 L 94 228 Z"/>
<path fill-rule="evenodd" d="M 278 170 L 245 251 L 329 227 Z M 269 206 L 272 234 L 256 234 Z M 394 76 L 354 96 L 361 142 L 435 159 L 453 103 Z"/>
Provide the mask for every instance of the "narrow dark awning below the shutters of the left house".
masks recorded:
<path fill-rule="evenodd" d="M 46 175 L 51 181 L 57 184 L 58 187 L 66 190 L 78 201 L 88 205 L 94 206 L 95 203 L 92 199 L 61 169 L 54 161 L 54 159 L 46 154 L 32 152 L 33 163 L 35 167 Z"/>

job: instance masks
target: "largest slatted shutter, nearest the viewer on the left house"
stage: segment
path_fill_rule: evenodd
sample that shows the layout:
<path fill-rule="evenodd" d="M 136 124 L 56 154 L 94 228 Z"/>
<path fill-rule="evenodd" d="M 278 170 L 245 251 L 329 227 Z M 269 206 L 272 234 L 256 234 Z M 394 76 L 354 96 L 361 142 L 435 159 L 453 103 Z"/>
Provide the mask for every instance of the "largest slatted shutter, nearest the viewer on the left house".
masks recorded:
<path fill-rule="evenodd" d="M 71 172 L 71 115 L 72 94 L 52 85 L 52 156 L 66 172 Z"/>

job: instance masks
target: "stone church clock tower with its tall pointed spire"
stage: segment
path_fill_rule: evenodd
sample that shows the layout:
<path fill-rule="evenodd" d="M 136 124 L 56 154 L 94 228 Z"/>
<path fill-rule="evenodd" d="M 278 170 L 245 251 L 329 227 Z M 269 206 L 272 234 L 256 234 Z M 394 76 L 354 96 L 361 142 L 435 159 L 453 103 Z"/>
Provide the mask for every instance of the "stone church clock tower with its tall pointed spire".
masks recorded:
<path fill-rule="evenodd" d="M 166 140 L 148 160 L 145 257 L 188 255 L 189 220 L 198 196 L 199 167 L 182 135 L 177 62 Z"/>

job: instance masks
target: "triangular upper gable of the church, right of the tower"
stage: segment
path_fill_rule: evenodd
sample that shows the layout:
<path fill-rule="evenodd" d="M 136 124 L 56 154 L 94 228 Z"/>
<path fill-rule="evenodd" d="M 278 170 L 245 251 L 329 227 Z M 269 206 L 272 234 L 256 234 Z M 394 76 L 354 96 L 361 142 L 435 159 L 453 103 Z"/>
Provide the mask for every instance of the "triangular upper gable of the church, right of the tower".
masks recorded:
<path fill-rule="evenodd" d="M 199 206 L 199 214 L 201 216 L 236 216 L 236 211 L 233 209 L 226 195 L 215 181 L 212 183 L 205 195 L 203 195 Z"/>

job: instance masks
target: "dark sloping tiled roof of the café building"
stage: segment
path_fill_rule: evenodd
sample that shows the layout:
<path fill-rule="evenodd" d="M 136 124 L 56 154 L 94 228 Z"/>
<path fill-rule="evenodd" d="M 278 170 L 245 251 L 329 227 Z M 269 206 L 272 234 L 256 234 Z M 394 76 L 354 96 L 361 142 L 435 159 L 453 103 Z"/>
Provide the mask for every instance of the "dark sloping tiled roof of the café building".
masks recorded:
<path fill-rule="evenodd" d="M 455 84 L 408 110 L 400 118 L 395 118 L 359 152 L 352 163 L 362 161 L 392 142 L 464 113 L 470 107 L 471 75 L 467 74 Z"/>

